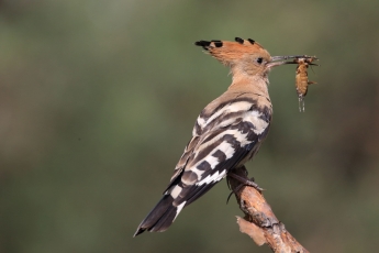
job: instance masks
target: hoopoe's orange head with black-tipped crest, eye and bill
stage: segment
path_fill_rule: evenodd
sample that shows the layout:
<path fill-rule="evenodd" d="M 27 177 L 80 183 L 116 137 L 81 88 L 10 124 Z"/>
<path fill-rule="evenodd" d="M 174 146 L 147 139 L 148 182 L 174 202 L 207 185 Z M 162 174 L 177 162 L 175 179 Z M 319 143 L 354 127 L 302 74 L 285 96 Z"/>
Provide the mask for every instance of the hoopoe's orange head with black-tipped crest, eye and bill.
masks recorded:
<path fill-rule="evenodd" d="M 270 56 L 270 54 L 252 38 L 235 38 L 228 41 L 198 41 L 197 46 L 202 46 L 210 55 L 228 66 L 234 76 L 248 75 L 267 77 L 272 67 L 293 62 L 282 59 L 294 58 L 296 56 Z M 278 62 L 281 61 L 281 62 Z"/>

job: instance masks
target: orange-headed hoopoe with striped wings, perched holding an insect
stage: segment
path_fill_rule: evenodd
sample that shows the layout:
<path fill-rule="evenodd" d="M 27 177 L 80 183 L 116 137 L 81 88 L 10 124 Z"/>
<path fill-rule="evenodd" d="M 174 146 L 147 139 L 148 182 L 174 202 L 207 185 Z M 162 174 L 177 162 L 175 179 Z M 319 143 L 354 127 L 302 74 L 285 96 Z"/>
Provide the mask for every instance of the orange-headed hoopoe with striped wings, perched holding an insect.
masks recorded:
<path fill-rule="evenodd" d="M 198 117 L 192 139 L 163 198 L 141 222 L 134 237 L 146 230 L 167 230 L 183 207 L 200 198 L 226 175 L 233 176 L 233 168 L 244 166 L 257 153 L 267 136 L 272 116 L 268 73 L 275 66 L 293 63 L 281 59 L 296 57 L 271 57 L 252 38 L 198 41 L 194 44 L 228 66 L 233 81 Z"/>

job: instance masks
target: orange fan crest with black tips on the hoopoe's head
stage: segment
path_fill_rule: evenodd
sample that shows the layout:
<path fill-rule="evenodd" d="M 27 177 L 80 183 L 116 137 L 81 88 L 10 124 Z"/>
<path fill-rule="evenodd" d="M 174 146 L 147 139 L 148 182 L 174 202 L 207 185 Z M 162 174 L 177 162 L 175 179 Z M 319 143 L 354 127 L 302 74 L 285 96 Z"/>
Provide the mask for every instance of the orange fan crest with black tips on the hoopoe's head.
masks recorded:
<path fill-rule="evenodd" d="M 265 55 L 270 58 L 269 53 L 257 42 L 252 38 L 243 40 L 236 37 L 235 42 L 228 41 L 198 41 L 194 43 L 197 46 L 202 46 L 214 58 L 219 59 L 222 64 L 233 66 L 237 62 L 254 55 Z"/>

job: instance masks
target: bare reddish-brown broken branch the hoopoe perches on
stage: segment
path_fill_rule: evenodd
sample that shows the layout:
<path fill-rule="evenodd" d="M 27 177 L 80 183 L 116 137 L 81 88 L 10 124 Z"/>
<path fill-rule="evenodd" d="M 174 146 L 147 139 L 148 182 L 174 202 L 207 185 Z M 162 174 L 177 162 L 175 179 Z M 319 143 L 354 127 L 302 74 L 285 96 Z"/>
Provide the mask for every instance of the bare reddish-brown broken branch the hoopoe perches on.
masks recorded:
<path fill-rule="evenodd" d="M 234 169 L 234 174 L 249 179 L 245 166 Z M 285 228 L 276 216 L 264 196 L 254 187 L 241 186 L 241 183 L 227 177 L 232 190 L 235 193 L 244 218 L 237 217 L 239 231 L 248 234 L 259 246 L 267 243 L 276 253 L 299 252 L 305 250 Z"/>

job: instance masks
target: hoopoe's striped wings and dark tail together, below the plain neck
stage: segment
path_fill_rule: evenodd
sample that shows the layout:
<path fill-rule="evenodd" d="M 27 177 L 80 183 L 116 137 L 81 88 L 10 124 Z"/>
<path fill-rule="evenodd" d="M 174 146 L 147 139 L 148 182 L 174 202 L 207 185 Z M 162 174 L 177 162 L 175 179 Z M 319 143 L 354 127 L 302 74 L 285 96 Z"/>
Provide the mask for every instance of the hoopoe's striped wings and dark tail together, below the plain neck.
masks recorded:
<path fill-rule="evenodd" d="M 269 109 L 257 109 L 250 101 L 225 103 L 211 116 L 204 114 L 198 118 L 193 138 L 163 198 L 134 235 L 167 230 L 183 207 L 252 158 L 267 135 L 271 118 Z"/>

